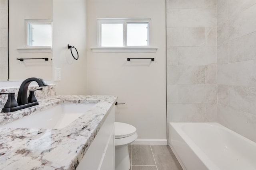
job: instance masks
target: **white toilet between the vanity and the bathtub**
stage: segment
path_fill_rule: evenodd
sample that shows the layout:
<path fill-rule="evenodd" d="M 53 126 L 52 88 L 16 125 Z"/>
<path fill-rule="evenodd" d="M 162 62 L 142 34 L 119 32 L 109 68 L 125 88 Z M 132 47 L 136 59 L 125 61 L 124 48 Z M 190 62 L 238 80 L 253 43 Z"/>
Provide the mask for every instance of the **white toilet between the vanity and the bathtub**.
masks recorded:
<path fill-rule="evenodd" d="M 135 141 L 137 137 L 134 126 L 115 122 L 115 170 L 130 169 L 128 145 Z"/>

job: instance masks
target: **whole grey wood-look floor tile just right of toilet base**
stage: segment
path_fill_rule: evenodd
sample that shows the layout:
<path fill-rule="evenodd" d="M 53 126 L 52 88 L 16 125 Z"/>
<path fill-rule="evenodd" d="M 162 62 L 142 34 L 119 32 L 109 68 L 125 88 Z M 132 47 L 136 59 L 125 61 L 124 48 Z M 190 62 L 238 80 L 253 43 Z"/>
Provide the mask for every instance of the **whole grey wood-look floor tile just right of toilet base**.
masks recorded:
<path fill-rule="evenodd" d="M 150 145 L 132 145 L 132 165 L 156 165 Z"/>

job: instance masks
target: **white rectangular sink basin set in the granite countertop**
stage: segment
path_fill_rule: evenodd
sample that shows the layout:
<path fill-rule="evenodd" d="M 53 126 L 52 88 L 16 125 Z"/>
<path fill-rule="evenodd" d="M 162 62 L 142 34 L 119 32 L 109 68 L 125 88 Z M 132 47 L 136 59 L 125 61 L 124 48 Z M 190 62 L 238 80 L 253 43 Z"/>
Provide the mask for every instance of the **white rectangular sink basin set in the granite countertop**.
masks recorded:
<path fill-rule="evenodd" d="M 2 125 L 1 128 L 61 129 L 86 113 L 94 104 L 60 104 Z"/>

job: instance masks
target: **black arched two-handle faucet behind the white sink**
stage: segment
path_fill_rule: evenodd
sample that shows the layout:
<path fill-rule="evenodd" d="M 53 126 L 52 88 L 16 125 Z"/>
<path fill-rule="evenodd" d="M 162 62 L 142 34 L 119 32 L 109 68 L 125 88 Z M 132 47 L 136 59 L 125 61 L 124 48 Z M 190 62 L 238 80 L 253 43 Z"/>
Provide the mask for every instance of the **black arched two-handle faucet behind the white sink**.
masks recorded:
<path fill-rule="evenodd" d="M 40 87 L 47 86 L 47 83 L 42 78 L 32 77 L 32 78 L 28 78 L 28 79 L 24 80 L 22 82 L 22 84 L 20 85 L 17 102 L 15 101 L 14 93 L 8 94 L 8 100 L 6 102 L 6 105 L 4 105 L 4 108 L 2 109 L 1 112 L 12 112 L 12 111 L 17 111 L 20 109 L 38 105 L 38 102 L 37 102 L 36 98 L 34 97 L 35 90 L 30 91 L 30 97 L 28 100 L 28 86 L 33 81 L 37 82 L 38 86 L 40 86 Z M 42 88 L 37 89 L 37 90 L 42 90 Z M 1 94 L 3 94 L 3 93 L 1 93 Z M 10 103 L 10 104 L 7 105 L 7 103 Z"/>

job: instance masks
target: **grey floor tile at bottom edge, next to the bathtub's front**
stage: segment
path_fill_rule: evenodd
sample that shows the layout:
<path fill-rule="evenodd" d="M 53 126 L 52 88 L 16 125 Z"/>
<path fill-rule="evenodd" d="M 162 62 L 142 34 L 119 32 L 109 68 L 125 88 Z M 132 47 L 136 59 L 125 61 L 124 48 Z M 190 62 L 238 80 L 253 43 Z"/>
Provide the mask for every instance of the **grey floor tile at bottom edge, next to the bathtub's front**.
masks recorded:
<path fill-rule="evenodd" d="M 154 154 L 158 170 L 182 170 L 174 154 Z"/>

